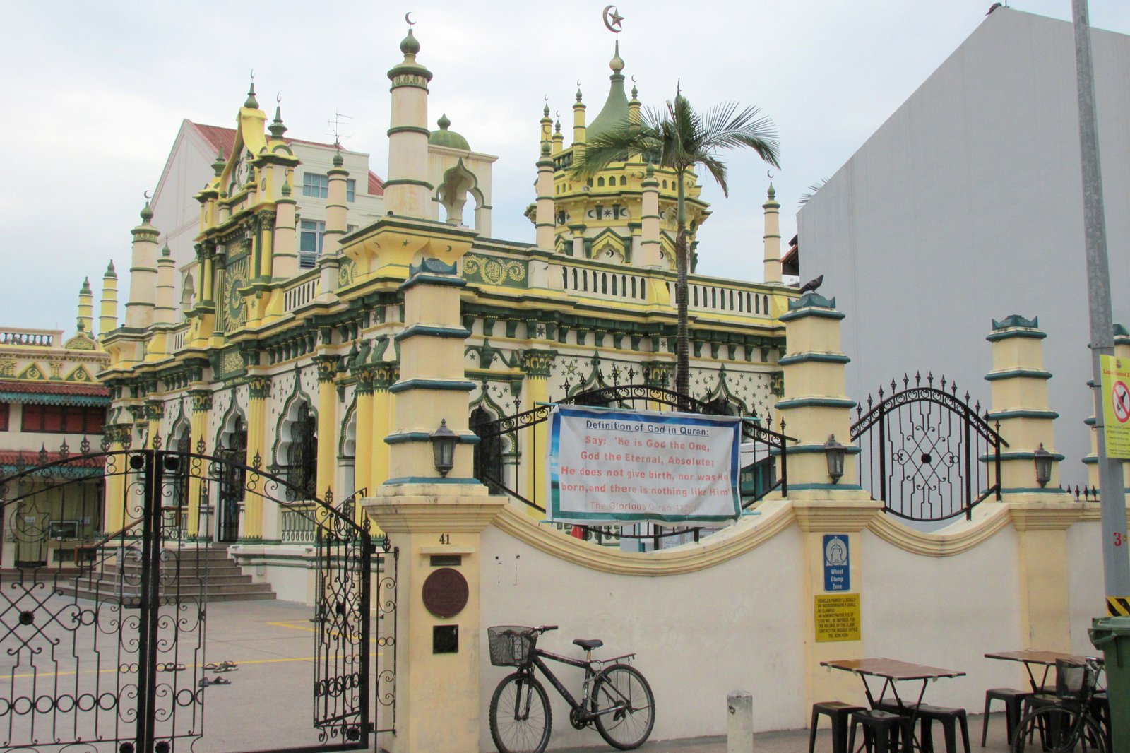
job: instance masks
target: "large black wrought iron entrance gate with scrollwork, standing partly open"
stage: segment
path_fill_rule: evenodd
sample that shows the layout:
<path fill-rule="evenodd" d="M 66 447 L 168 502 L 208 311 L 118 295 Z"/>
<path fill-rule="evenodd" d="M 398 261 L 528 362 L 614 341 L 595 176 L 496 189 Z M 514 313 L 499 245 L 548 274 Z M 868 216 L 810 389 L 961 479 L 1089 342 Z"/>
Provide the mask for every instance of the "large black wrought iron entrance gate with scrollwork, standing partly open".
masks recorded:
<path fill-rule="evenodd" d="M 233 478 L 245 502 L 277 504 L 312 528 L 318 750 L 371 747 L 382 732 L 374 698 L 385 729 L 395 724 L 394 657 L 374 665 L 371 647 L 395 643 L 397 552 L 374 547 L 367 519 L 310 500 L 258 459 L 154 444 L 90 452 L 84 441 L 79 455 L 64 444 L 58 459 L 44 452 L 0 478 L 2 546 L 15 553 L 0 570 L 0 747 L 169 753 L 205 735 L 205 673 L 216 668 L 207 605 L 221 588 L 209 570 L 226 552 L 184 525 L 184 496 L 223 501 Z M 103 521 L 116 530 L 95 533 Z"/>

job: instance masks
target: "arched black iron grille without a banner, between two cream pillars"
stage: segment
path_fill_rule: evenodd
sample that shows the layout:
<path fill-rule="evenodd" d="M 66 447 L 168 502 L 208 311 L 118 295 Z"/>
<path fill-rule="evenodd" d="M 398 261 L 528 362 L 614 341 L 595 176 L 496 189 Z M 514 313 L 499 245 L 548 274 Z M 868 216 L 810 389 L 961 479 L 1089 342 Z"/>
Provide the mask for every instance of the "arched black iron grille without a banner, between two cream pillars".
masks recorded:
<path fill-rule="evenodd" d="M 970 393 L 958 397 L 957 384 L 947 389 L 942 376 L 933 386 L 920 374 L 904 375 L 902 388 L 890 380 L 890 391 L 879 388 L 878 400 L 868 396 L 867 412 L 855 408 L 851 439 L 860 448 L 859 479 L 887 512 L 907 520 L 939 521 L 973 508 L 990 494 L 1000 499 L 1000 448 L 1008 442 L 991 426 L 981 404 L 970 405 Z M 993 464 L 993 483 L 986 464 Z"/>

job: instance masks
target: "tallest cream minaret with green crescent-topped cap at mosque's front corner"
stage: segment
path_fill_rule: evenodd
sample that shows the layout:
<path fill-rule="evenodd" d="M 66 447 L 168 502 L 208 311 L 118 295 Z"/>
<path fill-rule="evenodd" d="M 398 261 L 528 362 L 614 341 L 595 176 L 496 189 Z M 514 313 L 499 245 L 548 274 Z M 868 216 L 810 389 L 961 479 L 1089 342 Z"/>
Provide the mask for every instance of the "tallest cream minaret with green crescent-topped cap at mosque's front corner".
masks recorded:
<path fill-rule="evenodd" d="M 389 127 L 389 179 L 384 207 L 389 214 L 428 216 L 432 185 L 427 182 L 427 84 L 432 71 L 416 62 L 420 44 L 408 29 L 400 43 L 405 60 L 389 71 L 392 105 Z"/>

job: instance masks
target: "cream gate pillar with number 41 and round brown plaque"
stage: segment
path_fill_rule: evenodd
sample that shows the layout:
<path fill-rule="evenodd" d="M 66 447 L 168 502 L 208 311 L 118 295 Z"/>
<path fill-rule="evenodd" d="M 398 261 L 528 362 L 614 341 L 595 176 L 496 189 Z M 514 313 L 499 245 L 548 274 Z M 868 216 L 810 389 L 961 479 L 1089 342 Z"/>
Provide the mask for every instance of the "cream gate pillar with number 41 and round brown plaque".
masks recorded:
<path fill-rule="evenodd" d="M 473 478 L 463 286 L 455 266 L 437 259 L 412 265 L 401 286 L 400 379 L 389 388 L 393 429 L 384 440 L 390 477 L 364 502 L 399 552 L 395 732 L 381 742 L 390 753 L 479 750 L 480 531 L 506 499 Z M 441 426 L 455 440 L 450 469 L 433 456 Z"/>

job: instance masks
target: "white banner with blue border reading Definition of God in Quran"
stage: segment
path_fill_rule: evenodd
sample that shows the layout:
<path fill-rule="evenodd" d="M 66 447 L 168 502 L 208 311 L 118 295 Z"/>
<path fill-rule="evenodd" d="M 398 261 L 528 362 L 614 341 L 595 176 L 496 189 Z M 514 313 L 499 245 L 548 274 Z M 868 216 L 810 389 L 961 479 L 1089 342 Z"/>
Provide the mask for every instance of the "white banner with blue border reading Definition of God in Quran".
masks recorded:
<path fill-rule="evenodd" d="M 550 520 L 734 520 L 741 419 L 556 406 Z"/>

